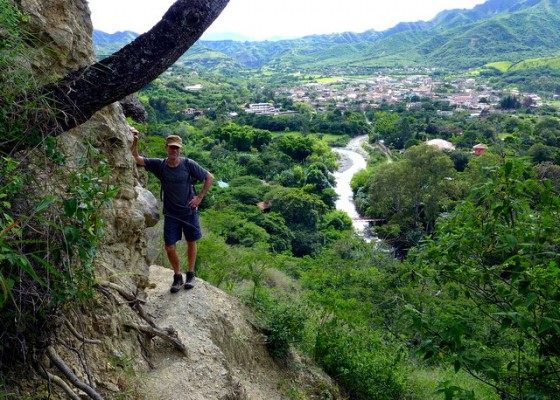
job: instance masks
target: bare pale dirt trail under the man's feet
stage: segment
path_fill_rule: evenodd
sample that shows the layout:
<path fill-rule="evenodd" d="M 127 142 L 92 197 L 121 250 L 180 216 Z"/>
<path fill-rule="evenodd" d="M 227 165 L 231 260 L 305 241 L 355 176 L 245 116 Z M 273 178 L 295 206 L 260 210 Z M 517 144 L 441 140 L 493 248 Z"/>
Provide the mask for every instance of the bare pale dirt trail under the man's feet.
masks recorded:
<path fill-rule="evenodd" d="M 183 356 L 154 340 L 155 369 L 142 377 L 149 399 L 283 399 L 285 373 L 247 321 L 245 307 L 196 279 L 192 290 L 171 294 L 172 272 L 151 266 L 146 310 L 160 327 L 172 326 L 188 348 Z"/>

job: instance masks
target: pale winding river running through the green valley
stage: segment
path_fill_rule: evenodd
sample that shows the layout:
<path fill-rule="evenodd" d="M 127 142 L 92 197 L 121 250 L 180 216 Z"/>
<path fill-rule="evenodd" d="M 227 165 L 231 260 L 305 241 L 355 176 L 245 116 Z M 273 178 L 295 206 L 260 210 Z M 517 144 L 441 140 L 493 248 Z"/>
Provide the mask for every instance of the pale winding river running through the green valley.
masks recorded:
<path fill-rule="evenodd" d="M 354 204 L 354 196 L 350 181 L 354 174 L 367 166 L 367 153 L 362 148 L 362 143 L 368 138 L 367 135 L 358 136 L 350 140 L 344 148 L 333 148 L 340 155 L 340 167 L 333 174 L 336 179 L 335 191 L 338 194 L 336 209 L 345 211 L 354 225 L 356 233 L 366 241 L 371 241 L 369 223 L 359 220 L 359 214 Z"/>

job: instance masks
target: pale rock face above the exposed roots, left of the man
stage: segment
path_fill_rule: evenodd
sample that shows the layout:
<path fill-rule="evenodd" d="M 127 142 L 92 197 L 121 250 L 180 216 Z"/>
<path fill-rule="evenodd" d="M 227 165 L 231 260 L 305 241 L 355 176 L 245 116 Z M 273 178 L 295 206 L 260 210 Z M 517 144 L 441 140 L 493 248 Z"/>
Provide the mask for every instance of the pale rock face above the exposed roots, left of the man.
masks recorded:
<path fill-rule="evenodd" d="M 54 50 L 48 52 L 48 60 L 39 61 L 43 65 L 35 66 L 38 74 L 63 76 L 95 61 L 87 0 L 20 0 L 19 4 L 31 17 L 41 45 Z M 130 269 L 144 271 L 144 230 L 157 222 L 157 202 L 149 198 L 145 189 L 136 189 L 144 177 L 132 158 L 132 136 L 121 106 L 115 103 L 97 112 L 87 123 L 61 135 L 59 144 L 68 155 L 80 154 L 85 138 L 108 160 L 111 184 L 119 188 L 113 207 L 104 215 L 104 241 L 109 246 L 100 249 L 101 264 L 111 265 L 108 270 L 115 273 L 115 266 L 121 264 L 126 253 L 127 265 L 120 273 Z M 105 268 L 96 274 L 104 277 Z"/>

